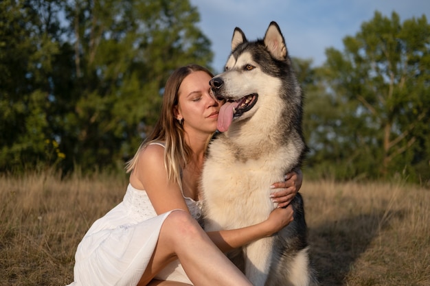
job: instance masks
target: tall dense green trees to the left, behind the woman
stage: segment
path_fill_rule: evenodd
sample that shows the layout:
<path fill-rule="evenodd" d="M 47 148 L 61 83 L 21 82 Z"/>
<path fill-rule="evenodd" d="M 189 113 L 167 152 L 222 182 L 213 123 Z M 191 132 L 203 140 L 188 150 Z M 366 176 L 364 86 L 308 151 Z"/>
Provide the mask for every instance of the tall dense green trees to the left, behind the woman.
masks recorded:
<path fill-rule="evenodd" d="M 0 3 L 0 171 L 123 167 L 173 69 L 209 66 L 189 1 Z"/>

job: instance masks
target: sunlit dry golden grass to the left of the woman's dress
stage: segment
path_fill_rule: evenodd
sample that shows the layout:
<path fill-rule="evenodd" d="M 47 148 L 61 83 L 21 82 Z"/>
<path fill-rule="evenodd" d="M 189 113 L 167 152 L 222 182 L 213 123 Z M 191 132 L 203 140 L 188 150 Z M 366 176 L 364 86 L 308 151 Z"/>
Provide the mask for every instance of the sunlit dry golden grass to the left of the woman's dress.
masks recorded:
<path fill-rule="evenodd" d="M 124 178 L 0 177 L 0 285 L 67 285 L 93 221 L 122 200 Z"/>

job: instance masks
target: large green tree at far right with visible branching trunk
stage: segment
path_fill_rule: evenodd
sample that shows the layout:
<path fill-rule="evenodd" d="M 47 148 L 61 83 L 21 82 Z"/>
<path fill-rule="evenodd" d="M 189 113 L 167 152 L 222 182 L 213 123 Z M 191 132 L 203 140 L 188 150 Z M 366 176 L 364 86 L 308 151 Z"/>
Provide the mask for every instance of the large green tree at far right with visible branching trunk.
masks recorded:
<path fill-rule="evenodd" d="M 319 69 L 337 119 L 319 126 L 322 152 L 332 144 L 344 178 L 405 175 L 430 179 L 430 25 L 423 15 L 400 23 L 375 12 L 344 51 L 326 50 Z M 321 108 L 325 109 L 325 108 Z M 327 110 L 314 110 L 324 119 Z M 333 112 L 335 111 L 335 112 Z M 330 142 L 329 142 L 330 141 Z"/>

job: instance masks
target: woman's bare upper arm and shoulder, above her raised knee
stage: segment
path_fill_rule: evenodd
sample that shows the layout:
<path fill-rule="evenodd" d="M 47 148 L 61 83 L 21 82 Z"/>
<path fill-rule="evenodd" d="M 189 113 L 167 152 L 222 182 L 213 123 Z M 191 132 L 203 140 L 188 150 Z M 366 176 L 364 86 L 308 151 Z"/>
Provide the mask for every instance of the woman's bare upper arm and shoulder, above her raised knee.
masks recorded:
<path fill-rule="evenodd" d="M 164 147 L 148 145 L 139 156 L 139 161 L 130 176 L 136 189 L 145 190 L 157 214 L 174 209 L 188 211 L 179 184 L 168 180 L 164 167 Z"/>

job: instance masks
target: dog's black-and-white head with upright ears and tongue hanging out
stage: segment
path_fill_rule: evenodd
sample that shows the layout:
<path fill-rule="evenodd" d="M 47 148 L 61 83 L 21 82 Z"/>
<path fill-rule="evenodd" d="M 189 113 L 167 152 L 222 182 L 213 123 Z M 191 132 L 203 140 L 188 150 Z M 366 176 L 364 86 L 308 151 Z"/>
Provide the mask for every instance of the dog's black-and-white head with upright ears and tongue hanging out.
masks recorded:
<path fill-rule="evenodd" d="M 214 96 L 225 100 L 218 116 L 218 130 L 224 132 L 232 122 L 253 117 L 262 106 L 284 104 L 281 96 L 288 86 L 285 80 L 290 66 L 284 36 L 277 23 L 270 23 L 264 38 L 256 41 L 248 41 L 236 27 L 225 71 L 210 81 Z M 296 85 L 294 82 L 290 87 Z M 265 104 L 268 101 L 270 104 Z"/>

